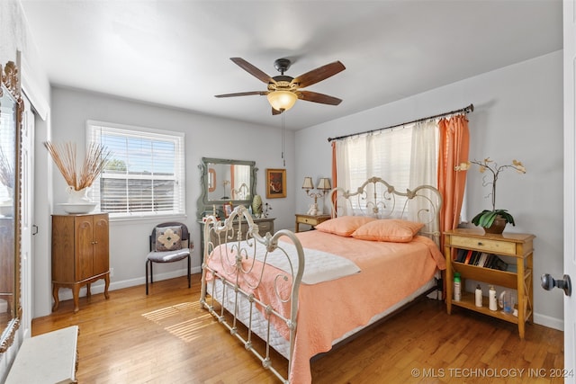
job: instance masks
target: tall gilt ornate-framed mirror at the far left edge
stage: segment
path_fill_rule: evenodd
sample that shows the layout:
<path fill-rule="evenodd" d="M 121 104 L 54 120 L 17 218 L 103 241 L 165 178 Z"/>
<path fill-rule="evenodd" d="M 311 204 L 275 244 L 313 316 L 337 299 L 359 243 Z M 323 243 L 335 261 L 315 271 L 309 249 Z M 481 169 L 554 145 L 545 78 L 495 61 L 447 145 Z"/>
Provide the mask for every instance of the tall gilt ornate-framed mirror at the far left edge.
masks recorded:
<path fill-rule="evenodd" d="M 2 160 L 0 161 L 0 183 L 5 187 L 8 194 L 12 192 L 12 198 L 3 201 L 0 205 L 0 281 L 6 283 L 6 287 L 0 287 L 0 296 L 6 300 L 6 326 L 1 331 L 0 353 L 5 353 L 14 343 L 14 335 L 22 320 L 21 302 L 21 133 L 23 123 L 23 98 L 21 94 L 19 70 L 14 62 L 9 61 L 4 67 L 0 65 L 0 76 L 2 85 L 0 86 L 0 108 L 2 103 L 13 105 L 13 111 L 5 113 L 0 120 L 0 135 L 4 135 L 6 142 L 0 138 L 0 148 Z M 4 112 L 3 112 L 4 113 Z M 4 124 L 2 124 L 4 123 Z M 6 130 L 9 129 L 9 130 Z M 12 140 L 14 138 L 14 140 Z M 5 145 L 4 145 L 5 144 Z M 4 161 L 5 160 L 5 161 Z M 6 166 L 9 165 L 9 166 Z M 12 265 L 11 265 L 12 264 Z M 5 273 L 5 274 L 4 274 Z M 9 282 L 7 282 L 9 281 Z M 10 292 L 12 289 L 12 292 Z"/>

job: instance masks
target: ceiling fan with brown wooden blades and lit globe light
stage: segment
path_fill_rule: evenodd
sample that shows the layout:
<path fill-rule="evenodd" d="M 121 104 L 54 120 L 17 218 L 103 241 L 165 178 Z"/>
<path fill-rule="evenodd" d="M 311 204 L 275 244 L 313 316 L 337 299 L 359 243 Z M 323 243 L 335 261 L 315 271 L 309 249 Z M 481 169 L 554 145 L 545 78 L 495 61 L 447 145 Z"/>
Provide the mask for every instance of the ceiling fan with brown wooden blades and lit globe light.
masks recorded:
<path fill-rule="evenodd" d="M 240 92 L 237 94 L 216 94 L 215 97 L 235 97 L 235 96 L 249 96 L 259 94 L 266 96 L 270 105 L 272 105 L 272 114 L 280 114 L 284 111 L 291 109 L 296 103 L 296 100 L 301 99 L 307 102 L 338 105 L 342 102 L 337 97 L 329 96 L 328 94 L 318 94 L 311 91 L 302 91 L 309 85 L 319 83 L 322 80 L 334 76 L 339 72 L 346 69 L 342 63 L 335 61 L 316 69 L 312 69 L 305 74 L 292 77 L 285 76 L 284 72 L 288 70 L 292 62 L 288 58 L 278 58 L 274 62 L 274 67 L 280 72 L 279 76 L 268 76 L 266 73 L 254 67 L 243 58 L 230 58 L 235 62 L 238 67 L 241 67 L 247 73 L 255 76 L 258 80 L 268 85 L 267 91 L 252 91 Z"/>

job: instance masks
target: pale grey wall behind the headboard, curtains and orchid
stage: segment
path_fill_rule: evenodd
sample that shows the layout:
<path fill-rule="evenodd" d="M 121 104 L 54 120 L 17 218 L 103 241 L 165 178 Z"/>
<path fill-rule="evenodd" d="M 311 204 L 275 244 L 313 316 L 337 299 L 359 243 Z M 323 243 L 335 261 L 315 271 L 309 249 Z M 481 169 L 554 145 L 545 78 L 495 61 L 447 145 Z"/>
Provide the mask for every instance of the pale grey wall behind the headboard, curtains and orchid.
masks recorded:
<path fill-rule="evenodd" d="M 527 174 L 500 175 L 497 208 L 516 219 L 510 232 L 536 235 L 534 255 L 535 322 L 562 329 L 562 295 L 540 288 L 540 275 L 563 275 L 563 76 L 562 51 L 474 76 L 396 103 L 329 121 L 296 133 L 296 177 L 330 175 L 327 138 L 379 129 L 470 103 L 470 156 L 490 156 L 501 164 L 518 159 Z M 491 208 L 484 199 L 481 174 L 468 173 L 467 210 L 473 215 Z M 296 209 L 310 203 L 301 192 Z"/>

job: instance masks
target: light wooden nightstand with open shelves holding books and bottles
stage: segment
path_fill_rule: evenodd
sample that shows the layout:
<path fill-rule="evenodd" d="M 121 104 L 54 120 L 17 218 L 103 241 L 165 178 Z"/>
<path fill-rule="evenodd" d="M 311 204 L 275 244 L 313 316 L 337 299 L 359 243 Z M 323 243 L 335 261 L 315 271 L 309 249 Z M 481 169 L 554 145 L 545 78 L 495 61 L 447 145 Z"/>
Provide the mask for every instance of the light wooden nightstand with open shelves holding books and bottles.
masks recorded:
<path fill-rule="evenodd" d="M 518 335 L 524 338 L 525 323 L 532 321 L 534 315 L 533 297 L 533 240 L 534 235 L 521 233 L 503 233 L 501 235 L 485 234 L 478 229 L 455 229 L 444 233 L 444 255 L 446 256 L 446 310 L 448 314 L 453 306 L 471 309 L 484 315 L 497 317 L 510 323 L 518 324 Z M 505 271 L 481 266 L 478 262 L 458 261 L 460 252 L 486 253 L 507 258 L 513 268 Z M 468 258 L 468 257 L 466 257 Z M 473 260 L 473 259 L 471 259 Z M 462 291 L 462 299 L 453 298 L 454 273 L 459 272 L 465 287 L 464 279 L 484 281 L 489 284 L 517 290 L 518 317 L 500 310 L 490 310 L 488 299 L 482 298 L 482 307 L 474 305 L 474 295 Z M 498 295 L 497 295 L 498 297 Z"/>

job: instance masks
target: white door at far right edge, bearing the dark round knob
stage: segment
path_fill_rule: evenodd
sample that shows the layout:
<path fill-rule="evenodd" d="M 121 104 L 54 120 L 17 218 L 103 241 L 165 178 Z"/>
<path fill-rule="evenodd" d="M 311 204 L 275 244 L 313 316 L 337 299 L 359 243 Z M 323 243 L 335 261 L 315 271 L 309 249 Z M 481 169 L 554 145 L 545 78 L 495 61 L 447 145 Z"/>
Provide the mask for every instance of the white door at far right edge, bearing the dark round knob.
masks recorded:
<path fill-rule="evenodd" d="M 576 7 L 564 0 L 564 273 L 576 279 Z M 564 296 L 565 383 L 576 383 L 576 293 Z M 571 374 L 572 373 L 572 374 Z"/>

